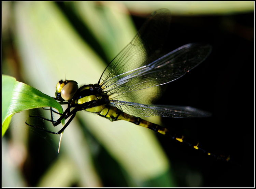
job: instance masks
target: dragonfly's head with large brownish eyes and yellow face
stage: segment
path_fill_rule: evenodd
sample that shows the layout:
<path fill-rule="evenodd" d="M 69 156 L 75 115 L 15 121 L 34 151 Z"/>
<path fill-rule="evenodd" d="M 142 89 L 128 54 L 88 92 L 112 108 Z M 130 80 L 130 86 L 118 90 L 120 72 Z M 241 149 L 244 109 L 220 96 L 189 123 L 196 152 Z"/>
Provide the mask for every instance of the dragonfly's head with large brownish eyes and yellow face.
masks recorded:
<path fill-rule="evenodd" d="M 63 102 L 73 98 L 78 89 L 76 81 L 73 80 L 60 80 L 56 86 L 55 96 L 58 101 Z"/>

